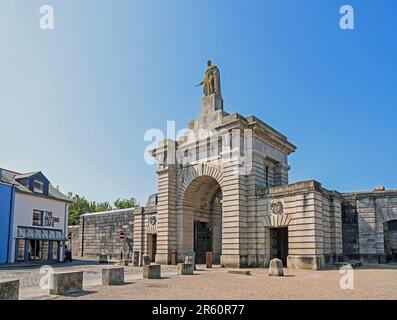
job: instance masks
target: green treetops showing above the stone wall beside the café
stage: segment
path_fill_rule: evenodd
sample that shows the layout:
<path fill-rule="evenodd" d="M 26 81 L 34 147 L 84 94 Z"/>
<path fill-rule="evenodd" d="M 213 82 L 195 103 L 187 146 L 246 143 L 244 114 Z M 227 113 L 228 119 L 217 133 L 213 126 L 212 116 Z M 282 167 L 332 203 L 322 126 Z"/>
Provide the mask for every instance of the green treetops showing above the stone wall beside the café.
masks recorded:
<path fill-rule="evenodd" d="M 114 209 L 127 209 L 137 207 L 138 203 L 135 198 L 131 199 L 117 199 L 113 204 L 114 207 L 107 201 L 95 202 L 88 201 L 85 197 L 80 197 L 72 192 L 68 193 L 69 199 L 72 201 L 69 204 L 69 225 L 79 225 L 80 216 L 85 213 L 110 211 Z"/>

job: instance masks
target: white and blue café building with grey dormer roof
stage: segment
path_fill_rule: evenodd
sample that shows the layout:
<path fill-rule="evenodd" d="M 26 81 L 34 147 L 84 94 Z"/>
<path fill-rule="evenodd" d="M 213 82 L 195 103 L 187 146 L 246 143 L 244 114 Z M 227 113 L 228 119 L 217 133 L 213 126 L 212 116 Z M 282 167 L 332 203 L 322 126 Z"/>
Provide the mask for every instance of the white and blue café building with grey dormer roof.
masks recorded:
<path fill-rule="evenodd" d="M 69 202 L 40 171 L 0 168 L 0 264 L 63 261 Z"/>

